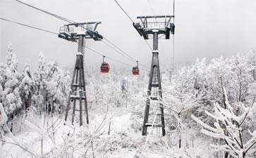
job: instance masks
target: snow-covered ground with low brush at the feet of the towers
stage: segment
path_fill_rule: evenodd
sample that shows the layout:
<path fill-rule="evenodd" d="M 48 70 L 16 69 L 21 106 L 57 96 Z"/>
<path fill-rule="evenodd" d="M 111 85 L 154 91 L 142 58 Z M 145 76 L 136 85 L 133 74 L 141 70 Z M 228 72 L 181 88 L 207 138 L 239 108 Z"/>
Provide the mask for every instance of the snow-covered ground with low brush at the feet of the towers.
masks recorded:
<path fill-rule="evenodd" d="M 147 84 L 144 88 L 146 86 Z M 147 136 L 141 135 L 145 95 L 142 91 L 138 91 L 133 97 L 134 101 L 130 101 L 127 108 L 109 107 L 108 111 L 107 107 L 92 108 L 93 111 L 89 111 L 90 124 L 82 127 L 78 126 L 78 118 L 75 119 L 74 126 L 70 120 L 65 122 L 63 114 L 56 114 L 54 117 L 44 114 L 45 118 L 35 114 L 28 114 L 26 119 L 20 117 L 21 121 L 15 125 L 14 136 L 10 134 L 5 136 L 8 143 L 3 143 L 1 146 L 0 157 L 25 158 L 33 155 L 33 157 L 185 158 L 188 157 L 185 155 L 190 155 L 190 157 L 211 158 L 209 141 L 198 134 L 197 129 L 183 131 L 181 149 L 178 148 L 178 135 L 173 131 L 167 131 L 164 138 L 155 134 L 150 135 L 145 144 Z"/>

